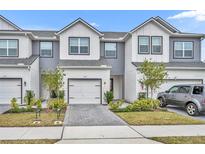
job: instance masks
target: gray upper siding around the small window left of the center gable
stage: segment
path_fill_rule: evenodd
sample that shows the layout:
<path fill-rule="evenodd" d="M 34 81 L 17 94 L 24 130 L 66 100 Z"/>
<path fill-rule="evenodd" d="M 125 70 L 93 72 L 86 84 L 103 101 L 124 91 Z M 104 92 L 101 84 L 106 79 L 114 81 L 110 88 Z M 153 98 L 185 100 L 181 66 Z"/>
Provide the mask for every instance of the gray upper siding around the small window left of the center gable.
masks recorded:
<path fill-rule="evenodd" d="M 32 51 L 34 55 L 39 55 L 40 41 L 32 42 Z M 39 58 L 40 59 L 40 70 L 53 70 L 59 63 L 59 42 L 53 41 L 53 57 L 52 58 Z"/>

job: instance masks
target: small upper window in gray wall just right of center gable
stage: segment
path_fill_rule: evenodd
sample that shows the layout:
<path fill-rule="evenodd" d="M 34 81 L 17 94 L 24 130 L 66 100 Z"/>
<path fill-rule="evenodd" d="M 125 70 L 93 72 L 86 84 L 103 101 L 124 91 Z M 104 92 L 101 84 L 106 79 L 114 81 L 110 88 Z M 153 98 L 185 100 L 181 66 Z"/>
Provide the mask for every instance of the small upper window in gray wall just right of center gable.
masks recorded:
<path fill-rule="evenodd" d="M 117 43 L 105 43 L 105 58 L 117 57 Z"/>

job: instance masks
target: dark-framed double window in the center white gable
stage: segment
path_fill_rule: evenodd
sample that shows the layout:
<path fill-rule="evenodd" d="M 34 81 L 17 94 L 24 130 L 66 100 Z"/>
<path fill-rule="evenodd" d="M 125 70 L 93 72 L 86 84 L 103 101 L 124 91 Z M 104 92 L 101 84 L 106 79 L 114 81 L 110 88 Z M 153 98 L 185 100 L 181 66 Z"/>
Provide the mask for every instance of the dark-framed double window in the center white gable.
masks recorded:
<path fill-rule="evenodd" d="M 70 37 L 69 54 L 87 55 L 90 50 L 90 38 L 88 37 Z"/>

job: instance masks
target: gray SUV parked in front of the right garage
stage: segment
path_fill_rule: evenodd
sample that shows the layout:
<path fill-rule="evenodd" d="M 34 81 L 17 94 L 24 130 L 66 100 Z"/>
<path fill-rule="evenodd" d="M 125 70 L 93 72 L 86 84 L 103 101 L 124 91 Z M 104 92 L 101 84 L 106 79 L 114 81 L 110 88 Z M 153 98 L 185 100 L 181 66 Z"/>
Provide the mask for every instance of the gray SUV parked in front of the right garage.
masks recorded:
<path fill-rule="evenodd" d="M 191 116 L 205 111 L 205 85 L 175 85 L 157 95 L 160 106 L 175 105 L 184 107 Z"/>

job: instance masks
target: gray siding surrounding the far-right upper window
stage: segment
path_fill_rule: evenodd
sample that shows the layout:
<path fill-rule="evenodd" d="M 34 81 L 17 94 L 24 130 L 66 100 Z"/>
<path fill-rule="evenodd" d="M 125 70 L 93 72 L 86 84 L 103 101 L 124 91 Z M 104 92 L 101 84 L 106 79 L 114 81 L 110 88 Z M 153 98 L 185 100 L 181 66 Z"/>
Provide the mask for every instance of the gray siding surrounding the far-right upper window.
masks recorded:
<path fill-rule="evenodd" d="M 192 59 L 174 59 L 174 42 L 192 41 L 194 42 L 194 57 Z M 200 62 L 201 61 L 201 40 L 199 38 L 170 38 L 170 62 Z"/>

